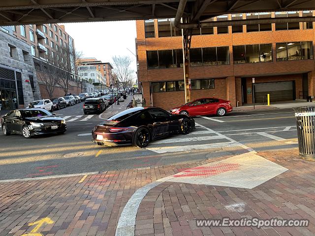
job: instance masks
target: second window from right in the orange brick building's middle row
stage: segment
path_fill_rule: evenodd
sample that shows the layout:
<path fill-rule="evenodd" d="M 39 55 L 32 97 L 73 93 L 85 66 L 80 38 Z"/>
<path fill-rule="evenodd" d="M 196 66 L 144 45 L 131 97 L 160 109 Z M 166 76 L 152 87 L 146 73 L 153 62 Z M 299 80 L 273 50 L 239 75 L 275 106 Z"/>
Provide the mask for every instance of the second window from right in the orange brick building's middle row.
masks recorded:
<path fill-rule="evenodd" d="M 272 61 L 272 44 L 233 46 L 234 64 Z"/>

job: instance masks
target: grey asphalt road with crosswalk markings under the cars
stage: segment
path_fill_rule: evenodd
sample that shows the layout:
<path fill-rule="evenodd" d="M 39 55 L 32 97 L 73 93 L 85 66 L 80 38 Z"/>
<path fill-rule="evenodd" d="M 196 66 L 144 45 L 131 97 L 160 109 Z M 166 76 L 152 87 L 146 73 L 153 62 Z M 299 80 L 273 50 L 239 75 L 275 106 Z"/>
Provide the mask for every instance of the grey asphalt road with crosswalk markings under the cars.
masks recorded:
<path fill-rule="evenodd" d="M 0 179 L 133 169 L 234 155 L 250 150 L 297 147 L 291 109 L 232 112 L 226 117 L 197 117 L 189 135 L 174 135 L 147 148 L 104 147 L 91 141 L 102 118 L 123 111 L 127 101 L 102 115 L 84 115 L 83 103 L 55 113 L 65 118 L 63 135 L 24 139 L 0 133 Z"/>

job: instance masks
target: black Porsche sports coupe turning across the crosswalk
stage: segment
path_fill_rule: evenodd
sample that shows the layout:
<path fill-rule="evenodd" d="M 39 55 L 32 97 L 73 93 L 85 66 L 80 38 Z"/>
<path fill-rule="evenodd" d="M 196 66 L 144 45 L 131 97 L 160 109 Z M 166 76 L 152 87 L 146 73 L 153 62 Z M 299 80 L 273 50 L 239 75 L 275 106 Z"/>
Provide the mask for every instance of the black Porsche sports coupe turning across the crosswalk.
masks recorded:
<path fill-rule="evenodd" d="M 135 107 L 96 125 L 92 141 L 98 145 L 148 146 L 150 141 L 171 134 L 189 134 L 195 121 L 186 115 L 171 115 L 160 108 Z"/>

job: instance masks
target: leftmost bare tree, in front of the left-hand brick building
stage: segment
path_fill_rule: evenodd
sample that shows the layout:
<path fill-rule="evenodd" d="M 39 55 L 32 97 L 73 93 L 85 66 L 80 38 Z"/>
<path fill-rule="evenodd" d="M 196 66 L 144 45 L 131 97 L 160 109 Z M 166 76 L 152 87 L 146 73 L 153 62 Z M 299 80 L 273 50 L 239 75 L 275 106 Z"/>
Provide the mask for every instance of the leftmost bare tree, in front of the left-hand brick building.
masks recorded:
<path fill-rule="evenodd" d="M 55 55 L 48 53 L 45 59 L 36 60 L 37 78 L 44 85 L 50 99 L 54 96 L 54 91 L 60 82 L 60 62 Z"/>

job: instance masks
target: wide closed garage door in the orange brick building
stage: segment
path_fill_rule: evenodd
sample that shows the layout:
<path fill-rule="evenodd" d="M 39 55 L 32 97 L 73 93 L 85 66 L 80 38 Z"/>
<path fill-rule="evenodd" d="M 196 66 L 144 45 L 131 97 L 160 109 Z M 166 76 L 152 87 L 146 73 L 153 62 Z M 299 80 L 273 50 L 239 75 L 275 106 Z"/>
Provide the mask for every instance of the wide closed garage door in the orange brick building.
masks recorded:
<path fill-rule="evenodd" d="M 255 102 L 266 102 L 270 94 L 271 102 L 294 100 L 293 81 L 255 84 Z"/>

